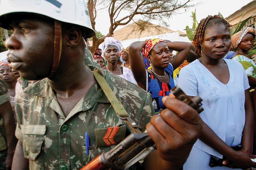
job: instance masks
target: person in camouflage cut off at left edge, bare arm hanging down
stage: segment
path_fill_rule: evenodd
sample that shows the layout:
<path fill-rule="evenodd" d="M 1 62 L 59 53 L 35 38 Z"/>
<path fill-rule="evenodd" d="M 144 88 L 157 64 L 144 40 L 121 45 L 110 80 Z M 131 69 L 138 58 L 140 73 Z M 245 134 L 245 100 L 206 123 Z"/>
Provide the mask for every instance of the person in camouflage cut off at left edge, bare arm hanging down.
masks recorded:
<path fill-rule="evenodd" d="M 0 169 L 11 169 L 17 143 L 15 120 L 6 84 L 0 79 Z"/>

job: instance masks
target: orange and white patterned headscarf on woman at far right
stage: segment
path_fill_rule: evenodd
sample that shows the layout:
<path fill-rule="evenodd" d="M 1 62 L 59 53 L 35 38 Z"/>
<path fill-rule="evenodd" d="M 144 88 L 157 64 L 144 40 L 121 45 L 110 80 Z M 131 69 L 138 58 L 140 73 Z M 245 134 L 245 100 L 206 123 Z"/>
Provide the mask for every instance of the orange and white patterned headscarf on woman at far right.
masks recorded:
<path fill-rule="evenodd" d="M 239 32 L 235 33 L 234 35 L 232 35 L 231 40 L 232 40 L 232 46 L 234 47 L 234 49 L 236 49 L 238 47 L 242 38 L 248 32 L 253 33 L 255 35 L 255 29 L 252 27 L 245 27 L 244 29 L 242 29 L 242 31 L 239 31 Z"/>

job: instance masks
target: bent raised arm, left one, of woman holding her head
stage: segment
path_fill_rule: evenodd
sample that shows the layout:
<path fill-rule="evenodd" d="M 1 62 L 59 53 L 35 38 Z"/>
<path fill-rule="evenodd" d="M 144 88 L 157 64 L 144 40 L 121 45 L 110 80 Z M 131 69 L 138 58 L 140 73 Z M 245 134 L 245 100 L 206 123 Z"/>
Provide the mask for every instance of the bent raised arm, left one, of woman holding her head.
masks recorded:
<path fill-rule="evenodd" d="M 136 41 L 129 48 L 130 67 L 138 86 L 146 90 L 146 70 L 140 51 L 147 41 Z"/>

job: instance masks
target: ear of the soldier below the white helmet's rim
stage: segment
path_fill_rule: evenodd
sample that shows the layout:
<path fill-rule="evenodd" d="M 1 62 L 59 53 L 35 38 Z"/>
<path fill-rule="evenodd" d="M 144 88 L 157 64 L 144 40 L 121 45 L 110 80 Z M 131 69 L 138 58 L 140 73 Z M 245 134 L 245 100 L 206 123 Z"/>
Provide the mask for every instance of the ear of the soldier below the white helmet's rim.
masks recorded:
<path fill-rule="evenodd" d="M 79 28 L 71 27 L 66 29 L 64 37 L 67 39 L 67 46 L 74 47 L 81 41 L 82 33 Z"/>

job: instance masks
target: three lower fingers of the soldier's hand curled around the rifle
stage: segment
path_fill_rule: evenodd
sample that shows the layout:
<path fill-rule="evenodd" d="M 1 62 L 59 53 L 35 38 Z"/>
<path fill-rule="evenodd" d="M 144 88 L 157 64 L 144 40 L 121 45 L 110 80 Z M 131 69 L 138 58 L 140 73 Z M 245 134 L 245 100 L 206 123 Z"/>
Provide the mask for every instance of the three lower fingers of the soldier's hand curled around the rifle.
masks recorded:
<path fill-rule="evenodd" d="M 170 149 L 194 143 L 200 134 L 201 126 L 190 124 L 173 111 L 165 109 L 160 116 L 151 118 L 146 129 L 156 146 L 168 152 Z"/>

